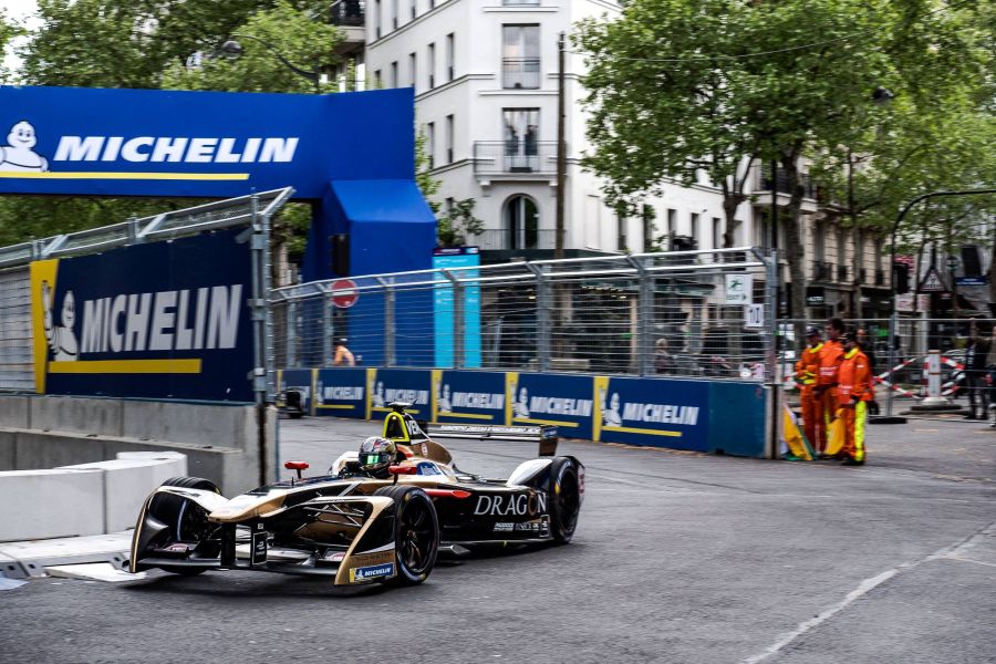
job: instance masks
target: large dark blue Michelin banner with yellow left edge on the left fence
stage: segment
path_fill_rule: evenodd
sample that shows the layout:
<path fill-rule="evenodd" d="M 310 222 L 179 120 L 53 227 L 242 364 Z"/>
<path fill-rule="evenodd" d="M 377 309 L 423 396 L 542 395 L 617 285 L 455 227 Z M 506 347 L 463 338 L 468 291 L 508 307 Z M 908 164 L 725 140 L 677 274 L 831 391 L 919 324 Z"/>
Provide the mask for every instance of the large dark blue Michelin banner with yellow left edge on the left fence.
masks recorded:
<path fill-rule="evenodd" d="M 251 402 L 242 232 L 32 262 L 37 391 Z"/>

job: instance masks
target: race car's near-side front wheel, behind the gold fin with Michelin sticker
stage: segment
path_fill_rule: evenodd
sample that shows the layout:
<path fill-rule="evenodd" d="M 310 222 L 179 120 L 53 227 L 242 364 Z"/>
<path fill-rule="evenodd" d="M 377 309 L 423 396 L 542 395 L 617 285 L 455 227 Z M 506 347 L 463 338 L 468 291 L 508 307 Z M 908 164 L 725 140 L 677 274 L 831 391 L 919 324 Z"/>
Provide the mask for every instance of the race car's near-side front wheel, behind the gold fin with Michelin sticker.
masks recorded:
<path fill-rule="evenodd" d="M 394 547 L 398 585 L 417 585 L 425 581 L 439 552 L 439 520 L 433 499 L 418 487 L 393 485 L 381 487 L 374 496 L 394 500 Z"/>

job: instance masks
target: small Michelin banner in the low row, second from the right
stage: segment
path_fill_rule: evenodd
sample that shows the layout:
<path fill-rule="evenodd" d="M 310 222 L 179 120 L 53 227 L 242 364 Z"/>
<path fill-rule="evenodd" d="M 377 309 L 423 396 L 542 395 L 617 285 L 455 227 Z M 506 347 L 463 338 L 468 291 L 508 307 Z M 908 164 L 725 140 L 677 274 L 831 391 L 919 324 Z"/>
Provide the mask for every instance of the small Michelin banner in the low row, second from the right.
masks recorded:
<path fill-rule="evenodd" d="M 507 424 L 556 425 L 562 438 L 592 439 L 591 376 L 506 374 Z"/>

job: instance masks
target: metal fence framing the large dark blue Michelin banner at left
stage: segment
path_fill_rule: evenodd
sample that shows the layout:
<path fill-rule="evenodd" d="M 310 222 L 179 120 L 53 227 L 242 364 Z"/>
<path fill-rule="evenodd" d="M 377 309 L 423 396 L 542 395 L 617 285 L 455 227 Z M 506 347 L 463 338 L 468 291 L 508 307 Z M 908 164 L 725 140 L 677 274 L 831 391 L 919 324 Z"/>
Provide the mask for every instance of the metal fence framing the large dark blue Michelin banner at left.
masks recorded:
<path fill-rule="evenodd" d="M 246 241 L 252 242 L 253 291 L 269 290 L 269 220 L 293 194 L 292 188 L 276 189 L 239 198 L 231 198 L 151 217 L 133 217 L 125 221 L 49 238 L 30 240 L 0 248 L 0 391 L 33 392 L 35 390 L 34 344 L 32 315 L 31 263 L 39 260 L 68 258 L 107 251 L 116 247 L 193 236 L 200 232 L 246 226 L 252 229 Z M 250 237 L 251 236 L 251 237 Z M 257 366 L 272 367 L 267 360 L 272 347 L 263 328 L 268 322 L 266 301 L 251 300 L 258 309 L 253 322 L 255 336 L 261 340 L 257 349 Z M 42 341 L 44 343 L 44 341 Z M 260 373 L 260 372 L 258 372 Z M 272 374 L 272 372 L 269 372 Z M 267 372 L 256 376 L 256 391 L 267 390 Z M 272 393 L 272 380 L 269 381 Z"/>

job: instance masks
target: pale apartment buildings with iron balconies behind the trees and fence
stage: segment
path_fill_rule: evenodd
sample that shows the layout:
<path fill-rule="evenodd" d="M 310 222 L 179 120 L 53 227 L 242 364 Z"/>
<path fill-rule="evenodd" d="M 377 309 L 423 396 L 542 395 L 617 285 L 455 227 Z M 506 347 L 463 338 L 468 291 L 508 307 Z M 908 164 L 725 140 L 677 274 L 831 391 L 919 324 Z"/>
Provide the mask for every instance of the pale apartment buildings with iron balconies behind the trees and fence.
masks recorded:
<path fill-rule="evenodd" d="M 365 44 L 357 55 L 366 81 L 415 90 L 416 122 L 425 137 L 436 203 L 445 209 L 473 198 L 485 231 L 474 242 L 485 260 L 550 258 L 556 243 L 559 37 L 589 17 L 611 20 L 615 0 L 367 0 Z M 718 189 L 702 178 L 692 186 L 665 184 L 649 199 L 652 221 L 621 218 L 605 206 L 600 178 L 585 173 L 584 62 L 564 58 L 567 256 L 641 252 L 654 248 L 723 245 L 726 221 Z M 776 177 L 778 205 L 788 201 Z M 755 168 L 756 196 L 738 211 L 736 246 L 767 246 L 770 173 Z M 834 221 L 832 206 L 817 203 L 807 183 L 805 229 L 810 315 L 888 311 L 888 274 L 880 245 L 854 238 Z M 784 247 L 784 239 L 780 242 Z M 785 273 L 786 280 L 788 271 Z M 857 280 L 862 282 L 858 293 Z M 859 301 L 854 301 L 854 299 Z M 787 301 L 787 298 L 786 298 Z"/>

